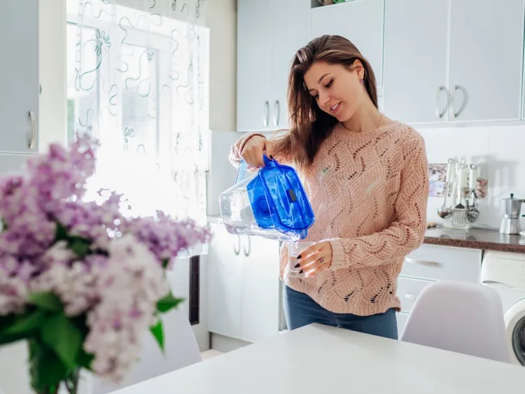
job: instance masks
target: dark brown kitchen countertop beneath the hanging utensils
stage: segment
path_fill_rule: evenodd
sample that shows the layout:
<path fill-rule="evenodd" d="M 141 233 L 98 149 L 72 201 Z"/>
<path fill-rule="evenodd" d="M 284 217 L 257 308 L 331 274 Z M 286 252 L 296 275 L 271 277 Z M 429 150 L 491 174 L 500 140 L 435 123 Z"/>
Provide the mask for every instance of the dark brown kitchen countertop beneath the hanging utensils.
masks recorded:
<path fill-rule="evenodd" d="M 525 253 L 525 237 L 500 234 L 498 230 L 456 230 L 435 227 L 426 230 L 423 244 L 454 246 L 486 251 Z"/>

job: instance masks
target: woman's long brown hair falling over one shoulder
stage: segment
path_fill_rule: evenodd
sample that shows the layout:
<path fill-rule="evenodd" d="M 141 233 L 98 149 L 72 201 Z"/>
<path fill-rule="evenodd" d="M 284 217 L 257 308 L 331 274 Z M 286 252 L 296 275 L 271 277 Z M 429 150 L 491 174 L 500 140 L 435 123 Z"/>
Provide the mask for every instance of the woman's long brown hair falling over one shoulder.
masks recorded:
<path fill-rule="evenodd" d="M 342 36 L 321 36 L 300 48 L 293 57 L 288 76 L 288 111 L 290 129 L 274 139 L 274 152 L 289 157 L 303 171 L 314 161 L 321 143 L 328 137 L 337 119 L 319 108 L 304 84 L 306 73 L 314 62 L 342 64 L 351 69 L 359 60 L 365 69 L 364 84 L 372 103 L 377 107 L 374 71 L 356 45 Z"/>

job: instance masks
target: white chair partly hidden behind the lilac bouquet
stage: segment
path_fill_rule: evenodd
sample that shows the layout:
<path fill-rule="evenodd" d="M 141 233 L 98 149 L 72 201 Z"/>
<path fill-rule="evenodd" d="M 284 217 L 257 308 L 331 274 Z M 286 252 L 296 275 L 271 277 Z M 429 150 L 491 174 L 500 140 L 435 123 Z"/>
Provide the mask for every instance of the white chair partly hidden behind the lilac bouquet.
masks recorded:
<path fill-rule="evenodd" d="M 182 306 L 162 315 L 162 323 L 165 354 L 162 354 L 153 335 L 148 332 L 140 360 L 127 374 L 125 380 L 121 384 L 113 385 L 95 377 L 92 382 L 93 394 L 111 393 L 202 360 L 188 314 Z"/>

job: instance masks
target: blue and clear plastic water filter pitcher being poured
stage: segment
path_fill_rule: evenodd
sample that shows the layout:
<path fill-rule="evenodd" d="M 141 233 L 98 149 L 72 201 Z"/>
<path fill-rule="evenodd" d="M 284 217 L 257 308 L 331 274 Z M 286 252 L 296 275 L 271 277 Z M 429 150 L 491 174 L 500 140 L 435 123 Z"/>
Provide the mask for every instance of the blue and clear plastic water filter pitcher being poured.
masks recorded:
<path fill-rule="evenodd" d="M 297 172 L 266 155 L 264 160 L 265 167 L 246 179 L 246 162 L 241 162 L 235 185 L 219 196 L 226 230 L 280 241 L 304 239 L 315 218 Z"/>

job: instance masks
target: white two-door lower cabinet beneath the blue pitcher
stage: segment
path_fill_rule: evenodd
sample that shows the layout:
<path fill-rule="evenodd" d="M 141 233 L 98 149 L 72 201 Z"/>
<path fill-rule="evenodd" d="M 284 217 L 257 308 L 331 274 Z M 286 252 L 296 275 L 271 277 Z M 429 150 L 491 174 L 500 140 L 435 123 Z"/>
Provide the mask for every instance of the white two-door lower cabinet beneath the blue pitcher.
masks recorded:
<path fill-rule="evenodd" d="M 279 333 L 279 242 L 237 237 L 223 224 L 208 256 L 209 331 L 246 342 Z"/>

